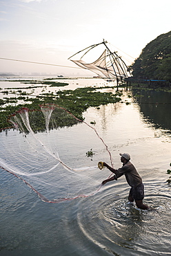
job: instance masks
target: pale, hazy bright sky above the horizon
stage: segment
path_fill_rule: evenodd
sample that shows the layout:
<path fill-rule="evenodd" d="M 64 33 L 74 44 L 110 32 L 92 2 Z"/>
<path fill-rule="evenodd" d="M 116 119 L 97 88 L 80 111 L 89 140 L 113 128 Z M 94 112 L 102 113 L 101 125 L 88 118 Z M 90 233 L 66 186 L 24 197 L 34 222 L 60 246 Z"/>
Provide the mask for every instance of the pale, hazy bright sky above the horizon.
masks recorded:
<path fill-rule="evenodd" d="M 170 10 L 170 0 L 0 0 L 0 57 L 76 67 L 68 57 L 105 39 L 129 65 L 170 31 Z M 90 74 L 1 59 L 0 72 Z"/>

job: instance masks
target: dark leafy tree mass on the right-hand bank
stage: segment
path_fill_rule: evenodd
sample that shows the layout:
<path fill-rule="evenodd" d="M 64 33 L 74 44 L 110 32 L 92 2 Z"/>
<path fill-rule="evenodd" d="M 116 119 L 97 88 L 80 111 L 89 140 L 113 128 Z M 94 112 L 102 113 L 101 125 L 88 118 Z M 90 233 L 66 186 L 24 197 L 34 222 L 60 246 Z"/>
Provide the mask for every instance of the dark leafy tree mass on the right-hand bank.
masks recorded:
<path fill-rule="evenodd" d="M 130 70 L 136 79 L 171 81 L 171 31 L 147 44 Z"/>

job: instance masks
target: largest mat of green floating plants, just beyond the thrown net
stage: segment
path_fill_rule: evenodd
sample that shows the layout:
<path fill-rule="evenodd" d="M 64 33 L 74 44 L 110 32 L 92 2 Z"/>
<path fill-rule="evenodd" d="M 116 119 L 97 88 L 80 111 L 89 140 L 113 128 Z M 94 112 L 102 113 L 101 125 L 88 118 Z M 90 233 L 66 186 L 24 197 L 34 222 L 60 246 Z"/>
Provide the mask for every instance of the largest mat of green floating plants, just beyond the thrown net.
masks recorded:
<path fill-rule="evenodd" d="M 72 113 L 77 118 L 83 120 L 83 112 L 89 107 L 99 107 L 101 104 L 115 103 L 119 102 L 121 98 L 118 94 L 113 93 L 101 93 L 97 91 L 99 88 L 78 88 L 74 91 L 65 90 L 57 91 L 57 93 L 44 93 L 42 95 L 37 95 L 35 97 L 26 98 L 23 95 L 27 95 L 26 91 L 20 91 L 20 96 L 22 98 L 15 98 L 15 100 L 24 100 L 23 104 L 17 104 L 17 106 L 6 106 L 1 107 L 0 105 L 0 129 L 9 127 L 7 118 L 10 114 L 14 113 L 22 107 L 27 107 L 28 109 L 40 109 L 40 104 L 53 103 L 57 104 L 59 107 L 64 107 L 70 113 Z M 12 99 L 14 100 L 14 99 Z M 10 103 L 10 98 L 9 98 Z M 41 125 L 39 125 L 41 129 Z"/>

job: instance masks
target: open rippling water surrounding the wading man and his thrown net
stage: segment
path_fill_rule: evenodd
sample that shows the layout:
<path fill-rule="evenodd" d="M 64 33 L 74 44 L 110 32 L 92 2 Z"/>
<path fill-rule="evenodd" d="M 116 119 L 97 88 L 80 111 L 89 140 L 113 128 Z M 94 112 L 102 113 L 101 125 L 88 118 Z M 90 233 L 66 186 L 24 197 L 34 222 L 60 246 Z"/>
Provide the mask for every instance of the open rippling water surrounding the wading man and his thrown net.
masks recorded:
<path fill-rule="evenodd" d="M 92 196 L 45 203 L 23 181 L 1 170 L 1 255 L 170 255 L 171 187 L 166 182 L 169 177 L 166 170 L 171 162 L 171 121 L 165 123 L 162 119 L 161 122 L 157 114 L 157 119 L 152 118 L 154 112 L 150 107 L 143 113 L 142 102 L 127 98 L 130 93 L 124 92 L 123 103 L 88 109 L 85 118 L 88 123 L 96 121 L 93 127 L 108 145 L 114 167 L 121 167 L 120 152 L 130 153 L 145 185 L 144 202 L 154 210 L 139 210 L 128 203 L 130 188 L 124 176 L 103 185 Z M 125 104 L 125 100 L 132 103 Z M 165 112 L 168 113 L 167 104 Z M 92 131 L 89 133 L 89 129 L 80 125 L 74 129 L 77 135 L 82 132 L 83 136 L 77 141 L 69 138 L 69 129 L 61 131 L 58 150 L 63 161 L 72 167 L 92 167 L 79 172 L 81 183 L 72 186 L 73 194 L 89 193 L 110 175 L 107 169 L 97 168 L 98 161 L 110 164 L 110 158 Z M 15 138 L 16 143 L 20 141 L 22 156 L 27 156 L 27 152 L 23 152 L 23 137 L 19 136 L 14 131 L 1 134 L 1 147 L 8 145 L 8 149 L 18 150 L 18 144 L 12 146 Z M 90 148 L 95 153 L 92 160 L 86 157 Z M 39 160 L 34 161 L 39 167 Z M 91 181 L 86 180 L 85 174 Z M 66 171 L 66 175 L 66 179 L 71 180 L 70 172 Z M 62 179 L 59 183 L 55 193 L 58 194 L 60 188 L 60 191 L 67 190 L 68 195 L 71 188 L 67 188 Z M 54 192 L 55 185 L 47 192 L 48 196 Z"/>

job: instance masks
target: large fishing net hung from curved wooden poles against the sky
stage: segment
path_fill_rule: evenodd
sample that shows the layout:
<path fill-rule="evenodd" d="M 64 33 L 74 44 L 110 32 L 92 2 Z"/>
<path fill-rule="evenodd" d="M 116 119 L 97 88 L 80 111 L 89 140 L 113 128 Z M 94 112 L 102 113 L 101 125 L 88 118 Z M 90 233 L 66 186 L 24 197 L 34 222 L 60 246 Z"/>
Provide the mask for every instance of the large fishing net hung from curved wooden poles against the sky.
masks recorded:
<path fill-rule="evenodd" d="M 125 80 L 128 77 L 128 66 L 126 66 L 125 62 L 119 57 L 116 51 L 110 51 L 108 47 L 108 42 L 104 41 L 99 44 L 93 44 L 92 46 L 88 46 L 83 50 L 75 53 L 68 60 L 71 60 L 81 68 L 86 68 L 98 75 L 98 77 L 105 78 L 107 80 L 117 80 L 117 84 Z M 88 55 L 90 51 L 97 46 L 104 46 L 103 53 L 101 53 L 100 57 L 94 62 L 88 63 L 82 60 L 83 57 Z M 72 57 L 79 56 L 81 53 L 81 57 L 79 60 L 73 60 Z M 83 54 L 83 55 L 82 55 Z M 92 55 L 92 52 L 91 52 Z M 130 74 L 129 74 L 130 75 Z"/>

